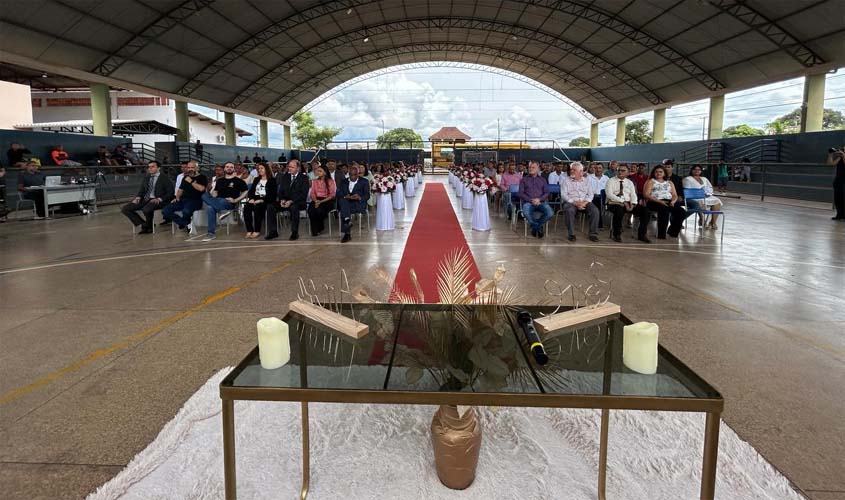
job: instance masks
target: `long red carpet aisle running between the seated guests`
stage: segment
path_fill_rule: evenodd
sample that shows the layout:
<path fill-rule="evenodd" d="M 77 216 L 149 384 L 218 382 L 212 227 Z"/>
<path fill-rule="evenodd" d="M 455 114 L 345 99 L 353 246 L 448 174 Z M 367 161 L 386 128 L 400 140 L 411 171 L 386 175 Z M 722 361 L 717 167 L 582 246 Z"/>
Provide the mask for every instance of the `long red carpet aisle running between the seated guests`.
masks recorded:
<path fill-rule="evenodd" d="M 446 186 L 439 182 L 427 183 L 411 234 L 405 243 L 405 252 L 399 262 L 394 289 L 412 297 L 417 296 L 409 273 L 413 268 L 425 294 L 425 301 L 438 302 L 437 265 L 455 249 L 464 249 L 472 256 L 458 218 L 452 210 L 449 195 L 446 194 Z M 470 283 L 475 283 L 481 279 L 481 274 L 475 259 L 471 258 L 471 262 Z"/>

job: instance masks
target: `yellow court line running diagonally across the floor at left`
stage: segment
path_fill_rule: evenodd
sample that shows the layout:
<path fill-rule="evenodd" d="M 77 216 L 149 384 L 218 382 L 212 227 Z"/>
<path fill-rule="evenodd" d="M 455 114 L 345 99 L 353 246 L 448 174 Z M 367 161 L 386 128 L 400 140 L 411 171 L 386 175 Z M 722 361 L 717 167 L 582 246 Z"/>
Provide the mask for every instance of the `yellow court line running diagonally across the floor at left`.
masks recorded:
<path fill-rule="evenodd" d="M 114 351 L 117 351 L 119 349 L 123 349 L 124 347 L 132 345 L 132 344 L 134 344 L 134 343 L 136 343 L 140 340 L 143 340 L 143 339 L 149 337 L 150 335 L 152 335 L 156 332 L 159 332 L 162 329 L 172 325 L 173 323 L 176 323 L 177 321 L 184 319 L 185 317 L 190 316 L 191 314 L 193 314 L 193 313 L 195 313 L 195 312 L 197 312 L 197 311 L 199 311 L 199 310 L 201 310 L 201 309 L 203 309 L 203 308 L 205 308 L 205 307 L 207 307 L 207 306 L 209 306 L 209 305 L 211 305 L 211 304 L 213 304 L 213 303 L 215 303 L 215 302 L 217 302 L 221 299 L 224 299 L 224 298 L 228 297 L 229 295 L 232 295 L 233 293 L 235 293 L 237 291 L 243 290 L 246 287 L 254 285 L 255 283 L 258 283 L 259 281 L 261 281 L 261 280 L 263 280 L 263 279 L 265 279 L 269 276 L 272 276 L 272 275 L 292 266 L 296 262 L 299 262 L 300 260 L 303 260 L 306 257 L 310 257 L 311 255 L 313 255 L 314 253 L 319 252 L 319 251 L 320 251 L 320 249 L 315 250 L 313 252 L 309 252 L 302 259 L 285 262 L 285 263 L 281 264 L 280 266 L 277 266 L 273 269 L 270 269 L 269 271 L 261 273 L 258 276 L 254 277 L 252 279 L 249 279 L 249 280 L 247 280 L 243 283 L 235 285 L 231 288 L 227 288 L 226 290 L 223 290 L 222 292 L 216 293 L 216 294 L 214 294 L 210 297 L 206 297 L 199 304 L 197 304 L 197 305 L 195 305 L 195 306 L 193 306 L 189 309 L 186 309 L 186 310 L 184 310 L 180 313 L 174 314 L 173 316 L 170 316 L 169 318 L 161 321 L 160 323 L 157 323 L 157 324 L 155 324 L 155 325 L 153 325 L 153 326 L 151 326 L 151 327 L 149 327 L 145 330 L 142 330 L 142 331 L 140 331 L 140 332 L 138 332 L 134 335 L 126 337 L 125 339 L 121 340 L 120 342 L 112 344 L 108 347 L 104 347 L 102 349 L 97 349 L 96 351 L 92 352 L 91 354 L 89 354 L 85 358 L 80 359 L 79 361 L 71 363 L 71 364 L 65 366 L 64 368 L 61 368 L 60 370 L 57 370 L 53 373 L 50 373 L 49 375 L 45 375 L 44 377 L 39 378 L 38 380 L 36 380 L 35 382 L 33 382 L 33 383 L 31 383 L 27 386 L 21 387 L 20 389 L 15 389 L 14 391 L 4 395 L 2 398 L 0 398 L 0 405 L 4 405 L 4 404 L 6 404 L 10 401 L 13 401 L 13 400 L 25 395 L 25 394 L 28 394 L 28 393 L 38 389 L 39 387 L 43 387 L 43 386 L 45 386 L 45 385 L 47 385 L 51 382 L 54 382 L 54 381 L 62 378 L 63 376 L 65 376 L 69 373 L 73 373 L 75 371 L 78 371 L 81 368 L 83 368 L 84 366 L 87 366 L 87 365 L 93 363 L 94 361 L 101 359 L 102 357 L 104 357 L 104 356 L 106 356 L 106 355 L 108 355 L 108 354 L 110 354 Z"/>

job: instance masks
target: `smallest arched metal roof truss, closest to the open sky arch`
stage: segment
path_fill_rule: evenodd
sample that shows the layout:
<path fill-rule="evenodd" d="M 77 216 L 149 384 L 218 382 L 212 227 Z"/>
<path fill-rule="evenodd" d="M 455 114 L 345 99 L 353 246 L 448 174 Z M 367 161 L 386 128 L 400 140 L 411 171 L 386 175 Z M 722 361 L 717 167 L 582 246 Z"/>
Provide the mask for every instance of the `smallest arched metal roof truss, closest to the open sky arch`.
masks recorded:
<path fill-rule="evenodd" d="M 479 54 L 479 55 L 486 55 L 493 58 L 498 58 L 500 60 L 507 60 L 510 62 L 520 62 L 525 63 L 528 61 L 533 69 L 540 70 L 544 73 L 555 75 L 561 79 L 566 79 L 568 82 L 571 82 L 574 87 L 580 87 L 579 90 L 582 90 L 588 94 L 589 97 L 593 98 L 599 105 L 603 105 L 610 110 L 617 110 L 614 111 L 616 113 L 624 112 L 624 108 L 616 102 L 614 99 L 604 95 L 601 90 L 593 87 L 589 83 L 581 80 L 580 78 L 571 75 L 560 68 L 556 68 L 551 66 L 548 63 L 538 61 L 531 56 L 527 56 L 522 53 L 518 52 L 509 52 L 503 51 L 501 49 L 489 47 L 486 45 L 475 45 L 475 44 L 465 44 L 465 43 L 410 43 L 407 45 L 401 45 L 398 47 L 389 47 L 386 49 L 376 49 L 373 52 L 369 52 L 363 54 L 360 57 L 356 57 L 353 59 L 349 59 L 344 61 L 343 63 L 332 66 L 327 68 L 319 73 L 300 73 L 304 75 L 304 78 L 301 78 L 302 82 L 299 83 L 296 87 L 291 89 L 287 94 L 283 97 L 276 100 L 273 104 L 265 108 L 261 111 L 260 114 L 264 116 L 273 116 L 279 110 L 285 108 L 285 105 L 294 101 L 299 95 L 304 93 L 307 90 L 312 90 L 314 88 L 314 78 L 321 79 L 325 74 L 337 75 L 342 71 L 352 70 L 361 71 L 362 68 L 370 63 L 376 62 L 380 64 L 390 64 L 385 61 L 387 57 L 393 56 L 400 56 L 404 54 L 414 54 L 415 56 L 422 56 L 422 57 L 431 57 L 430 54 L 432 52 L 445 52 L 445 53 L 455 53 L 458 55 L 462 54 Z M 392 65 L 392 64 L 390 64 Z M 358 75 L 355 75 L 358 76 Z"/>

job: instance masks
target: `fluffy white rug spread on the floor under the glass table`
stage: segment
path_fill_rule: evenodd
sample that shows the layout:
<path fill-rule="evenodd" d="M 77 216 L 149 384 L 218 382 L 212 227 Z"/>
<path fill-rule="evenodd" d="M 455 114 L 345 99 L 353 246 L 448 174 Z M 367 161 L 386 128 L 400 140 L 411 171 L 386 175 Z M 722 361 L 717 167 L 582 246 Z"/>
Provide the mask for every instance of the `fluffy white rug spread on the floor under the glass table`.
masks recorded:
<path fill-rule="evenodd" d="M 382 376 L 355 367 L 351 376 Z M 89 496 L 104 499 L 223 498 L 218 384 L 194 394 L 159 436 Z M 440 484 L 429 435 L 431 406 L 314 404 L 313 499 L 596 498 L 599 412 L 479 408 L 484 436 L 475 483 Z M 235 403 L 238 498 L 297 498 L 301 478 L 299 403 Z M 698 498 L 704 416 L 613 411 L 610 499 Z M 788 481 L 726 425 L 719 445 L 718 499 L 800 499 Z"/>

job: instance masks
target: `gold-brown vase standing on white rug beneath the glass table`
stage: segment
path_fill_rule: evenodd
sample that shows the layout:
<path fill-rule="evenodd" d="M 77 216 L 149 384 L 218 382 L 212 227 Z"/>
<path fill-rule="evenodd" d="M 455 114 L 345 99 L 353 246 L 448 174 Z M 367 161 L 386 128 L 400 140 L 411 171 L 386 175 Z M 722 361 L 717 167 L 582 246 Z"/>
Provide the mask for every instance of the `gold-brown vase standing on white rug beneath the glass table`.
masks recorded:
<path fill-rule="evenodd" d="M 475 480 L 481 451 L 481 425 L 470 408 L 463 417 L 455 406 L 441 406 L 431 421 L 434 464 L 440 482 L 453 490 L 468 488 Z"/>

